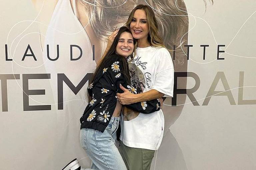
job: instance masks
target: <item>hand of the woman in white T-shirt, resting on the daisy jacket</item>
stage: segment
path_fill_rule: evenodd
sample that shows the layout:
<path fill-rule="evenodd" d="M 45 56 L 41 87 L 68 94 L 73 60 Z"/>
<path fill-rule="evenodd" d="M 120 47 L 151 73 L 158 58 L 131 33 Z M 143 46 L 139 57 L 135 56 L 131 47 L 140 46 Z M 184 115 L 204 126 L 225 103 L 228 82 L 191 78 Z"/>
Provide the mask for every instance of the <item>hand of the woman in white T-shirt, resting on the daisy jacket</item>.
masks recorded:
<path fill-rule="evenodd" d="M 117 100 L 119 101 L 119 103 L 121 103 L 122 105 L 129 105 L 132 103 L 136 103 L 136 99 L 137 99 L 137 94 L 132 94 L 128 89 L 124 88 L 121 84 L 120 84 L 120 88 L 124 91 L 124 93 L 117 93 Z"/>

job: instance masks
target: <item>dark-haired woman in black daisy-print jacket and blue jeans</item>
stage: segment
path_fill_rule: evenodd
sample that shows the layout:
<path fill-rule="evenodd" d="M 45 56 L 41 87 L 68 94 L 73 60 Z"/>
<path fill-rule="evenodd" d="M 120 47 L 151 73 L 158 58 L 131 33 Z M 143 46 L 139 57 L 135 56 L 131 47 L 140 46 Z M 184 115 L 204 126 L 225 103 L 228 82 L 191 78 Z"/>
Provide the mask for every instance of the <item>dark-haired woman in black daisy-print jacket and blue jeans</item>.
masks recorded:
<path fill-rule="evenodd" d="M 90 103 L 80 119 L 80 141 L 92 160 L 92 169 L 126 170 L 115 146 L 122 109 L 122 105 L 117 102 L 116 93 L 122 93 L 120 84 L 133 88 L 130 85 L 127 57 L 133 58 L 134 42 L 129 29 L 121 27 L 88 86 Z M 140 102 L 127 107 L 142 113 L 153 113 L 160 110 L 157 106 L 160 106 L 159 100 L 148 102 L 147 108 L 143 108 Z M 78 161 L 73 160 L 63 170 L 71 167 L 79 168 Z"/>

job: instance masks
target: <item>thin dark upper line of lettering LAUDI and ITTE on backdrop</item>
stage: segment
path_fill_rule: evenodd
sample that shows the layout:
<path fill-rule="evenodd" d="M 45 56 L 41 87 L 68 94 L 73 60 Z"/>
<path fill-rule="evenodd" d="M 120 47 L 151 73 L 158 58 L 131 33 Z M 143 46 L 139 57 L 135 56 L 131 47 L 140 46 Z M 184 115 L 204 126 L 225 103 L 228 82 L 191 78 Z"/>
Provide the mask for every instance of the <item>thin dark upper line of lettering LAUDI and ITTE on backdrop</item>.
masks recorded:
<path fill-rule="evenodd" d="M 206 47 L 209 47 L 209 45 L 200 45 L 200 46 L 203 47 L 203 60 L 205 60 Z M 60 52 L 59 52 L 60 46 L 57 44 L 56 47 L 57 47 L 57 56 L 55 58 L 51 58 L 49 56 L 49 53 L 50 53 L 49 44 L 47 44 L 47 58 L 51 61 L 56 61 L 60 56 Z M 73 51 L 74 47 L 76 47 L 80 50 L 80 55 L 77 58 L 73 58 L 73 52 L 72 51 Z M 193 47 L 193 45 L 184 45 L 184 47 L 187 47 L 187 54 L 186 55 L 187 55 L 187 60 L 189 60 L 189 49 L 190 49 L 190 47 Z M 220 53 L 225 52 L 224 50 L 220 50 L 220 47 L 225 47 L 225 45 L 217 45 L 217 59 L 218 60 L 224 60 L 225 58 L 220 58 L 219 57 Z M 94 58 L 95 58 L 94 57 L 94 54 L 95 54 L 94 45 L 93 45 L 92 49 L 93 49 L 93 60 L 94 60 Z M 176 45 L 173 45 L 173 55 L 172 55 L 173 60 L 175 60 L 175 49 L 176 49 Z M 74 45 L 74 44 L 70 45 L 70 60 L 71 61 L 79 60 L 82 57 L 82 54 L 83 54 L 83 50 L 80 46 Z M 24 53 L 21 60 L 24 61 L 25 57 L 27 57 L 27 56 L 33 56 L 34 60 L 37 61 L 36 56 L 35 56 L 32 48 L 29 44 L 28 44 L 27 49 L 25 50 L 25 53 Z M 12 61 L 13 60 L 12 58 L 8 58 L 8 45 L 7 44 L 5 44 L 5 60 L 6 61 Z"/>

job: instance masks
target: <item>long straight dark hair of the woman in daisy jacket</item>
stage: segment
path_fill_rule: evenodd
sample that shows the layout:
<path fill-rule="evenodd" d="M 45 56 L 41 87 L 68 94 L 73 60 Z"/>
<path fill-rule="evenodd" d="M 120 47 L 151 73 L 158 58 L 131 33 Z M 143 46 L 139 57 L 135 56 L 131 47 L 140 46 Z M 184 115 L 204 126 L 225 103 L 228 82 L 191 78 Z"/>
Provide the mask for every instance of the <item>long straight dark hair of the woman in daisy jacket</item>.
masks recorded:
<path fill-rule="evenodd" d="M 127 32 L 127 33 L 132 34 L 131 31 L 130 31 L 127 27 L 121 27 L 121 28 L 119 29 L 119 31 L 118 31 L 118 33 L 117 33 L 117 36 L 116 36 L 116 38 L 114 39 L 114 41 L 113 41 L 111 47 L 109 48 L 109 50 L 108 50 L 106 56 L 101 60 L 101 62 L 99 63 L 99 65 L 98 65 L 97 68 L 95 69 L 90 83 L 92 83 L 92 82 L 95 80 L 95 78 L 96 78 L 98 75 L 101 74 L 101 72 L 102 72 L 102 70 L 103 70 L 104 68 L 109 67 L 109 65 L 111 65 L 111 64 L 113 63 L 113 59 L 118 59 L 118 58 L 121 60 L 121 65 L 123 65 L 123 70 L 124 70 L 124 71 L 122 72 L 122 74 L 123 74 L 124 77 L 125 77 L 125 81 L 126 81 L 127 83 L 130 83 L 130 74 L 129 74 L 129 66 L 128 66 L 127 59 L 126 59 L 124 56 L 121 56 L 121 55 L 118 55 L 118 54 L 115 53 L 115 52 L 116 52 L 116 46 L 117 46 L 117 44 L 118 44 L 120 35 L 121 35 L 122 33 L 124 33 L 124 32 Z M 133 43 L 135 43 L 135 42 L 136 42 L 136 40 L 133 39 Z M 133 52 L 134 52 L 134 50 L 135 50 L 135 48 L 133 48 Z M 113 57 L 115 57 L 115 58 L 113 58 Z M 133 58 L 133 53 L 132 53 L 130 56 L 128 56 L 127 58 Z M 90 84 L 90 83 L 89 83 L 89 84 Z M 92 95 L 92 94 L 90 94 L 90 93 L 89 93 L 89 90 L 88 90 L 88 98 L 89 98 L 89 100 L 91 99 L 91 98 L 90 98 L 91 95 Z"/>

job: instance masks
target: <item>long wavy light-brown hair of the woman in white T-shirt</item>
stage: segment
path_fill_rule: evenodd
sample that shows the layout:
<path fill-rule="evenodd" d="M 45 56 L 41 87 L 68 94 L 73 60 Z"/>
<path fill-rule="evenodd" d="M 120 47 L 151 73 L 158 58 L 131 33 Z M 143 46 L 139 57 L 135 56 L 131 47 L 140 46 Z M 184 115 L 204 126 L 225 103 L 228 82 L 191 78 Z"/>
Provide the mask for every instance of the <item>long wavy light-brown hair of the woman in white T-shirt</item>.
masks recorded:
<path fill-rule="evenodd" d="M 165 47 L 164 42 L 162 38 L 160 37 L 158 33 L 158 24 L 157 20 L 155 17 L 155 13 L 152 10 L 152 8 L 148 5 L 137 5 L 131 12 L 127 22 L 126 22 L 126 27 L 130 29 L 130 24 L 132 22 L 134 13 L 137 9 L 144 10 L 146 12 L 147 16 L 147 22 L 149 26 L 149 35 L 148 35 L 148 42 L 150 43 L 151 46 L 162 46 Z"/>

